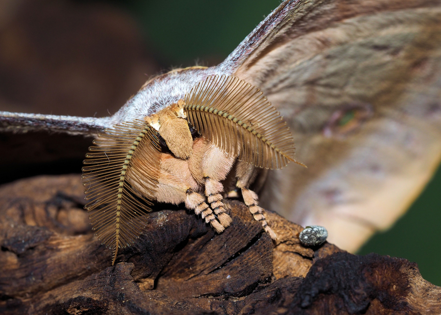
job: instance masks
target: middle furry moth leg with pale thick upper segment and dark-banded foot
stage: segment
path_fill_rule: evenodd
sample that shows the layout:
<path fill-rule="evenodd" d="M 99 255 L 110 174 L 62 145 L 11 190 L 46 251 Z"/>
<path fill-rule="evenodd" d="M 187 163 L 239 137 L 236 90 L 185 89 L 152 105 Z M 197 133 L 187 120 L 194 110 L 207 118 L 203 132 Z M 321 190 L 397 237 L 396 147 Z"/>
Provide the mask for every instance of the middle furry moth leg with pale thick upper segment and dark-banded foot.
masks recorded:
<path fill-rule="evenodd" d="M 232 220 L 225 212 L 224 203 L 222 202 L 224 197 L 221 194 L 224 191 L 224 186 L 220 181 L 227 177 L 234 161 L 235 157 L 209 143 L 205 147 L 201 163 L 207 201 L 224 227 L 228 227 Z"/>

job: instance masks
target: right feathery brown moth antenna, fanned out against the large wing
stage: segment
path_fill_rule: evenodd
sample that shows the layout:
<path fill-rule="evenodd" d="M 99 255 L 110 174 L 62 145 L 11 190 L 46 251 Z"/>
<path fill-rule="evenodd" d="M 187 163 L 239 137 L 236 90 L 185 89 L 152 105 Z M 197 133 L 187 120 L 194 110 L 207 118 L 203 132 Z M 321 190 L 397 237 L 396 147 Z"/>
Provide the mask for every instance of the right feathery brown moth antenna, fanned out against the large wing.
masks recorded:
<path fill-rule="evenodd" d="M 185 95 L 184 110 L 217 147 L 261 168 L 294 159 L 294 139 L 280 113 L 256 87 L 237 77 L 209 76 Z"/>

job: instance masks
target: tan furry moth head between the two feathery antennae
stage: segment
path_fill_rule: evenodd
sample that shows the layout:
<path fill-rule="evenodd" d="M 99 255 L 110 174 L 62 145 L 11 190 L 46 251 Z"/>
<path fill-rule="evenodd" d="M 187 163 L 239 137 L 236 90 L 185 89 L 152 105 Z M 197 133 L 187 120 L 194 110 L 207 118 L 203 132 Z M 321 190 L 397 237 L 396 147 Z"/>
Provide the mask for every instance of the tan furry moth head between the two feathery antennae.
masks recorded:
<path fill-rule="evenodd" d="M 155 128 L 167 143 L 168 149 L 176 157 L 187 159 L 193 153 L 193 138 L 191 136 L 187 115 L 183 110 L 184 101 L 165 107 L 156 114 L 145 117 L 145 121 Z"/>

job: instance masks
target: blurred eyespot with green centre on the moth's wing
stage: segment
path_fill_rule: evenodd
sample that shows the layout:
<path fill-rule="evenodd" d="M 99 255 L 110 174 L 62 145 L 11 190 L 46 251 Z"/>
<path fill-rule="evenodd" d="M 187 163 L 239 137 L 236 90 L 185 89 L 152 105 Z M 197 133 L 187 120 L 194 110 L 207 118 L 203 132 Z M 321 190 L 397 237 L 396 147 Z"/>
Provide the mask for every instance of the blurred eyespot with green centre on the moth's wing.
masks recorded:
<path fill-rule="evenodd" d="M 326 137 L 346 136 L 356 131 L 373 114 L 369 104 L 349 105 L 336 110 L 323 128 Z"/>

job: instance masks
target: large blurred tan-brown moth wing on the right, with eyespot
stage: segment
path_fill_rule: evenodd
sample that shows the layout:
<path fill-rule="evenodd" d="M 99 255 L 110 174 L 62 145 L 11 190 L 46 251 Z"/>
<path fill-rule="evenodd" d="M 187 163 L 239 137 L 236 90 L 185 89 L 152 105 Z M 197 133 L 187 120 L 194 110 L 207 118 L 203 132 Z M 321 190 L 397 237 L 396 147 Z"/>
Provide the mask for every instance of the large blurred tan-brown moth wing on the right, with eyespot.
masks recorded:
<path fill-rule="evenodd" d="M 261 204 L 355 251 L 419 195 L 441 157 L 441 5 L 285 1 L 220 65 L 294 135 Z"/>

